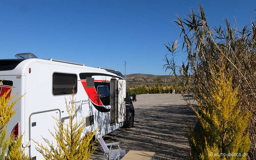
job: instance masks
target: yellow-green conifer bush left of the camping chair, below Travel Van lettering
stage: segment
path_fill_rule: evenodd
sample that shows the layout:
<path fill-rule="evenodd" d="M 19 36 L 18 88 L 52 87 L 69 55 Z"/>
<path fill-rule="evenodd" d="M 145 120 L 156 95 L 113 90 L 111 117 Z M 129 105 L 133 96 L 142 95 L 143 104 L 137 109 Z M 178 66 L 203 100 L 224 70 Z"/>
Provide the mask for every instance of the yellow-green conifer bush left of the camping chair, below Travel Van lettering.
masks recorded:
<path fill-rule="evenodd" d="M 84 135 L 86 117 L 75 122 L 76 113 L 79 111 L 80 106 L 76 106 L 74 96 L 73 89 L 73 94 L 70 98 L 71 105 L 65 99 L 66 110 L 69 115 L 68 124 L 64 124 L 59 119 L 54 118 L 58 127 L 55 128 L 55 132 L 50 131 L 50 133 L 57 140 L 57 146 L 53 146 L 49 140 L 44 138 L 43 140 L 48 144 L 48 147 L 36 142 L 38 145 L 36 150 L 47 160 L 87 160 L 96 149 L 92 149 L 91 146 L 97 142 L 92 142 L 92 138 L 98 130 L 87 132 Z"/>

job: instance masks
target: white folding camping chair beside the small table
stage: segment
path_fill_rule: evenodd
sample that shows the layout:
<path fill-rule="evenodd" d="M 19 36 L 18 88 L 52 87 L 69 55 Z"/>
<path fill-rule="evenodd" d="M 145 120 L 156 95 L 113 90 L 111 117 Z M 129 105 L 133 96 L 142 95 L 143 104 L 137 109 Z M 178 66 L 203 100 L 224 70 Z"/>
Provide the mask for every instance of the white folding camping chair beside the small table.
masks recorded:
<path fill-rule="evenodd" d="M 113 143 L 105 143 L 105 141 L 102 139 L 102 136 L 100 135 L 100 133 L 97 133 L 97 138 L 100 142 L 100 146 L 102 147 L 102 149 L 104 150 L 104 156 L 103 159 L 104 160 L 111 160 L 111 159 L 118 159 L 119 157 L 123 157 L 125 155 L 125 150 L 122 150 L 119 147 L 119 143 L 120 142 L 113 142 Z M 108 148 L 108 146 L 110 146 L 110 148 Z M 112 146 L 117 146 L 118 149 L 112 149 Z M 108 157 L 105 157 L 108 156 Z"/>

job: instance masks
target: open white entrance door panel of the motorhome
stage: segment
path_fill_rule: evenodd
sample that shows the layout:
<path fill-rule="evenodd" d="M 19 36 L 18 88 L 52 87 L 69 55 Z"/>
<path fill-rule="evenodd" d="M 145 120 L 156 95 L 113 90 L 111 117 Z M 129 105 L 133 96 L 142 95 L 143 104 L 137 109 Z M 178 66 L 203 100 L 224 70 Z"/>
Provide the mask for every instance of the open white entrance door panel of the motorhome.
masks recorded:
<path fill-rule="evenodd" d="M 125 97 L 126 97 L 126 81 L 119 79 L 118 83 L 118 107 L 117 107 L 117 123 L 125 121 Z"/>

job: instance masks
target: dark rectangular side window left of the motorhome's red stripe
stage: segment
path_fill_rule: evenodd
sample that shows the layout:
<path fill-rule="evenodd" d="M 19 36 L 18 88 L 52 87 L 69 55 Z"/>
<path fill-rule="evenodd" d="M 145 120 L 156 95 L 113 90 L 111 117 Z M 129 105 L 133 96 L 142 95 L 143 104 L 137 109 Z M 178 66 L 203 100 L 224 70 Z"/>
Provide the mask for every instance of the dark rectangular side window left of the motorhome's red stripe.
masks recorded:
<path fill-rule="evenodd" d="M 75 85 L 75 93 L 77 92 L 77 76 L 68 73 L 53 73 L 52 75 L 52 94 L 65 95 L 72 94 Z"/>

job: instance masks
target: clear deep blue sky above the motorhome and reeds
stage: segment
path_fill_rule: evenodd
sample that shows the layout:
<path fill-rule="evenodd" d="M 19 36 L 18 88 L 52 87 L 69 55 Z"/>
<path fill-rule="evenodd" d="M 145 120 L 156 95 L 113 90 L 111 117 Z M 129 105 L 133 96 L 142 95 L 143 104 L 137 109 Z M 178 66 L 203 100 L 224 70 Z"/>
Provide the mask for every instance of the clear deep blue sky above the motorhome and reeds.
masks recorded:
<path fill-rule="evenodd" d="M 164 72 L 164 43 L 178 39 L 176 14 L 184 18 L 200 1 L 1 1 L 0 59 L 32 52 L 38 58 L 113 68 L 127 74 L 169 75 Z M 255 21 L 256 1 L 201 2 L 208 25 L 238 30 Z M 180 51 L 177 64 L 185 60 Z"/>

